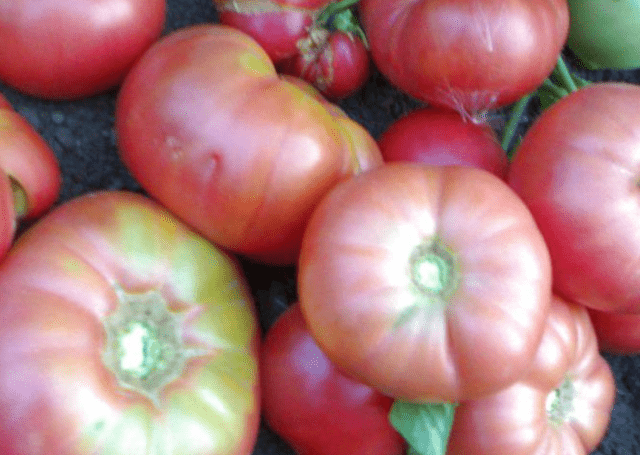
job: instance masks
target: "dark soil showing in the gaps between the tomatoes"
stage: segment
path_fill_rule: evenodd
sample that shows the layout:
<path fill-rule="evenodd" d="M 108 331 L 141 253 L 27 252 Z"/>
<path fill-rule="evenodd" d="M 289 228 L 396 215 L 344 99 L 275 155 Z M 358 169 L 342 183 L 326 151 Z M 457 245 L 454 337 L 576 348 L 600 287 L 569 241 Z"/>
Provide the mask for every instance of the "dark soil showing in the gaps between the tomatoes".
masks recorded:
<path fill-rule="evenodd" d="M 197 23 L 217 22 L 211 0 L 168 0 L 165 34 Z M 586 71 L 568 51 L 568 64 L 590 80 L 623 80 L 640 83 L 640 70 Z M 0 83 L 0 92 L 51 145 L 63 173 L 58 204 L 84 193 L 104 189 L 143 192 L 121 163 L 113 129 L 117 89 L 73 101 L 47 101 L 21 95 Z M 379 135 L 397 118 L 421 104 L 393 88 L 375 69 L 367 85 L 339 105 L 373 135 Z M 537 115 L 532 103 L 519 127 L 526 130 Z M 498 132 L 508 109 L 489 119 Z M 296 299 L 295 268 L 266 267 L 242 260 L 252 286 L 263 329 Z M 593 452 L 598 455 L 640 454 L 640 356 L 605 355 L 617 382 L 617 397 L 608 433 Z M 286 387 L 286 384 L 283 384 Z M 293 455 L 293 450 L 262 425 L 254 455 Z M 347 455 L 347 454 L 345 454 Z"/>

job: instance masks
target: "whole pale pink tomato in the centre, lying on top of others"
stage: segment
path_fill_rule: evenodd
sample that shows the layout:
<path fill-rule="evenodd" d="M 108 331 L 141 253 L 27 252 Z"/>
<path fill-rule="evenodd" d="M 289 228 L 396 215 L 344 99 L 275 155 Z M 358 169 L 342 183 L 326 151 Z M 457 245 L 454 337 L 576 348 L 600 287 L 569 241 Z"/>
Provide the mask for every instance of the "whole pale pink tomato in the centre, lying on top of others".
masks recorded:
<path fill-rule="evenodd" d="M 346 374 L 406 401 L 458 401 L 524 374 L 551 297 L 531 214 L 494 175 L 388 163 L 338 184 L 305 231 L 302 312 Z"/>

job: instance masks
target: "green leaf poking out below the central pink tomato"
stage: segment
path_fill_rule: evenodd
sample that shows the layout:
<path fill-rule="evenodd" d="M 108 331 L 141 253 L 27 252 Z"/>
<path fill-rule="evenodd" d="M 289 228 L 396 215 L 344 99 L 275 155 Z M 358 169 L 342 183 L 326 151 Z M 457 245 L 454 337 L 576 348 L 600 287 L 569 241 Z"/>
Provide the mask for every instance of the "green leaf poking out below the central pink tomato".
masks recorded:
<path fill-rule="evenodd" d="M 389 411 L 389 421 L 409 443 L 409 454 L 444 455 L 455 408 L 452 403 L 396 400 Z"/>

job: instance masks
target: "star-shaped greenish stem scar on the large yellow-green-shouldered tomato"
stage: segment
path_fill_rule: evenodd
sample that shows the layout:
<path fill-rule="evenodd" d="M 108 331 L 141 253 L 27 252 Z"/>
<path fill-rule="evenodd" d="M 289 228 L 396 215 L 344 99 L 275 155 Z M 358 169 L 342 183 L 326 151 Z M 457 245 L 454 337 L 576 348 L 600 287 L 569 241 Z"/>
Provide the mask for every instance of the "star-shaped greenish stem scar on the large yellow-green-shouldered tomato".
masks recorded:
<path fill-rule="evenodd" d="M 133 294 L 117 288 L 118 306 L 104 320 L 105 366 L 119 385 L 137 392 L 160 408 L 160 393 L 178 379 L 186 363 L 209 354 L 185 345 L 184 317 L 170 311 L 155 290 Z"/>

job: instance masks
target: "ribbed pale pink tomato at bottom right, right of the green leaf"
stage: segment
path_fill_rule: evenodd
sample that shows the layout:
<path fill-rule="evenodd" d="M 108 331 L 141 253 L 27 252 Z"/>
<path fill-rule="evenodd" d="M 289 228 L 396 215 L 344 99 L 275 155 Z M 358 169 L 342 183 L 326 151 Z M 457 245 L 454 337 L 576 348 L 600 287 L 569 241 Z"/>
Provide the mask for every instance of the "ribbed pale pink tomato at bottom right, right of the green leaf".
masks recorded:
<path fill-rule="evenodd" d="M 555 297 L 527 377 L 461 403 L 447 454 L 586 455 L 604 437 L 614 399 L 586 309 Z"/>

